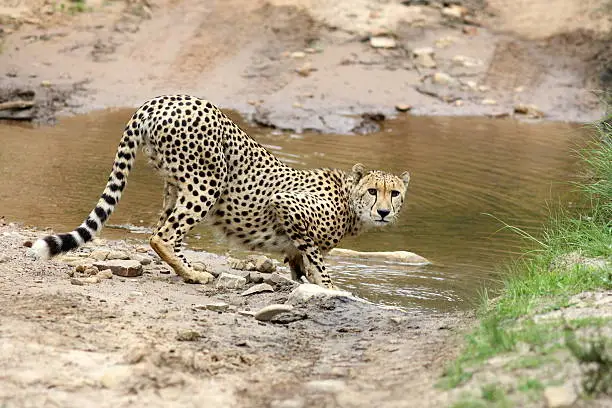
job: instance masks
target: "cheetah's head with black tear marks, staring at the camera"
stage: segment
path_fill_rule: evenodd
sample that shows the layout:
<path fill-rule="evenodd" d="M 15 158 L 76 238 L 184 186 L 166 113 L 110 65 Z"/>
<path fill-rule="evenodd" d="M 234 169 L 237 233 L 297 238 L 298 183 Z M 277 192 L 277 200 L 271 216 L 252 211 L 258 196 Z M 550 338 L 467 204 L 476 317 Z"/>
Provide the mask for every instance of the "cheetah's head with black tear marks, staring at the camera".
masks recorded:
<path fill-rule="evenodd" d="M 351 204 L 364 226 L 384 226 L 394 222 L 399 214 L 410 173 L 399 177 L 379 170 L 366 171 L 363 164 L 356 164 L 348 174 L 352 185 Z"/>

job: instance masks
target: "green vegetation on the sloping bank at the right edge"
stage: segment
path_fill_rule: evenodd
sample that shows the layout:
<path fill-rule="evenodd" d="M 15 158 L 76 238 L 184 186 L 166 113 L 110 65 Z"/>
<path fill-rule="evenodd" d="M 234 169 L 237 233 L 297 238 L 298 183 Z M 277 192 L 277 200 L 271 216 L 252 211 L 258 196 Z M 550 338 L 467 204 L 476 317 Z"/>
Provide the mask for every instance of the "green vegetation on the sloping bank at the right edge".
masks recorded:
<path fill-rule="evenodd" d="M 531 248 L 508 266 L 499 297 L 490 300 L 484 293 L 480 323 L 467 336 L 462 354 L 447 367 L 440 386 L 454 388 L 469 381 L 479 366 L 503 353 L 517 355 L 505 365 L 509 370 L 532 369 L 559 364 L 555 354 L 569 349 L 590 367 L 584 391 L 609 391 L 604 387 L 612 384 L 609 340 L 603 335 L 585 340 L 576 333 L 609 328 L 611 319 L 566 319 L 555 311 L 575 303 L 573 296 L 581 292 L 612 289 L 612 115 L 596 125 L 596 137 L 581 156 L 588 173 L 577 185 L 583 198 L 579 209 L 557 210 L 541 237 L 504 226 L 521 234 Z M 523 378 L 516 388 L 534 393 L 550 384 Z M 483 401 L 501 406 L 503 395 L 499 388 L 486 386 L 476 399 L 461 400 L 455 406 L 482 406 Z"/>

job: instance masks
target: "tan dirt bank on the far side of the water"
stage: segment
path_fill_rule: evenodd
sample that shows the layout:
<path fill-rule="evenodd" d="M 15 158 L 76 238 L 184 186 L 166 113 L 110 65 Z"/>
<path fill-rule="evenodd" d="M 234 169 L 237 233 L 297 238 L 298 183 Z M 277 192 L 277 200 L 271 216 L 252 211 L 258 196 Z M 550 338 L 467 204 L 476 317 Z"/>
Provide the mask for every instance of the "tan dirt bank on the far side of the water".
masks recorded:
<path fill-rule="evenodd" d="M 16 0 L 0 9 L 0 89 L 34 90 L 60 114 L 185 92 L 262 125 L 336 133 L 367 132 L 396 108 L 601 115 L 605 2 L 452 3 Z M 49 88 L 69 97 L 45 104 Z"/>

